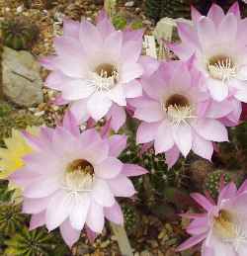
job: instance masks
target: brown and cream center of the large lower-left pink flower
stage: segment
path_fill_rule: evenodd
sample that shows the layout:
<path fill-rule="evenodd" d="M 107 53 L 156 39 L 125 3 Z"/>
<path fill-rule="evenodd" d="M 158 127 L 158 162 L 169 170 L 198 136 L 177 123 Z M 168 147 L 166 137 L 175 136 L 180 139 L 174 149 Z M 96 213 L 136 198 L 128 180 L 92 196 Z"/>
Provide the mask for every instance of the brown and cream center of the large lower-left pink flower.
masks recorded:
<path fill-rule="evenodd" d="M 94 167 L 84 159 L 69 163 L 63 177 L 63 186 L 72 192 L 89 192 L 94 182 Z"/>

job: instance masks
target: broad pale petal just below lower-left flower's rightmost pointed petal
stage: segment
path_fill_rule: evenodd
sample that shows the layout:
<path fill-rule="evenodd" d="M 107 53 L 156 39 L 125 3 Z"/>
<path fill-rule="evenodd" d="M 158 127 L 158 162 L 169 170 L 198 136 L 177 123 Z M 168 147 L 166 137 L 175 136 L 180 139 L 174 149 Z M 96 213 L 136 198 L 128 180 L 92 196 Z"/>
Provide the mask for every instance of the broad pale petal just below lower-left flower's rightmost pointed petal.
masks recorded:
<path fill-rule="evenodd" d="M 113 180 L 108 180 L 107 182 L 115 197 L 129 198 L 135 194 L 131 181 L 122 174 Z"/>

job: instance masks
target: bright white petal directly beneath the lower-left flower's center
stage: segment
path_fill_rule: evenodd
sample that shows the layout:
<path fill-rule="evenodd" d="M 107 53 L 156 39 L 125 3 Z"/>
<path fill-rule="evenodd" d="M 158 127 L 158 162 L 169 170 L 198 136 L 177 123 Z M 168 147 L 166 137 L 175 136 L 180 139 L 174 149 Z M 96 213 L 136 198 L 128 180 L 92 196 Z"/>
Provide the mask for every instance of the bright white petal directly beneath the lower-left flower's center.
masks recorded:
<path fill-rule="evenodd" d="M 79 194 L 74 199 L 74 205 L 69 214 L 71 226 L 76 230 L 81 230 L 86 222 L 90 208 L 90 196 L 87 193 Z"/>

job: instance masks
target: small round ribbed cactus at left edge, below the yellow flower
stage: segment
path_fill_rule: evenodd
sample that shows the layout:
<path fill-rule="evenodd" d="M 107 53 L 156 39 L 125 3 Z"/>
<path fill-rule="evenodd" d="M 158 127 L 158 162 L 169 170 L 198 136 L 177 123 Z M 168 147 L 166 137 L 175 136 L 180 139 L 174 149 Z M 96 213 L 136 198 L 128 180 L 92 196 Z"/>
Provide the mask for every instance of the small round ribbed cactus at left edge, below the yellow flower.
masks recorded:
<path fill-rule="evenodd" d="M 25 223 L 25 215 L 21 213 L 21 206 L 6 205 L 0 207 L 0 232 L 13 235 Z"/>

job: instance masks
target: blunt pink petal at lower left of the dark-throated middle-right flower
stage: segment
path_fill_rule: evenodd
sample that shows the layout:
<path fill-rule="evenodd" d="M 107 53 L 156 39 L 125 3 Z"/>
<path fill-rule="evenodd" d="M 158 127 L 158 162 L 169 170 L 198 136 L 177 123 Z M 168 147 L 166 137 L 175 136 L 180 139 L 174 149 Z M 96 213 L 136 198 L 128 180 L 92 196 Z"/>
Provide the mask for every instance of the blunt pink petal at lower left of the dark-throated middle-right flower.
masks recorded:
<path fill-rule="evenodd" d="M 145 123 L 142 122 L 137 129 L 136 142 L 147 143 L 154 140 L 160 123 Z"/>

